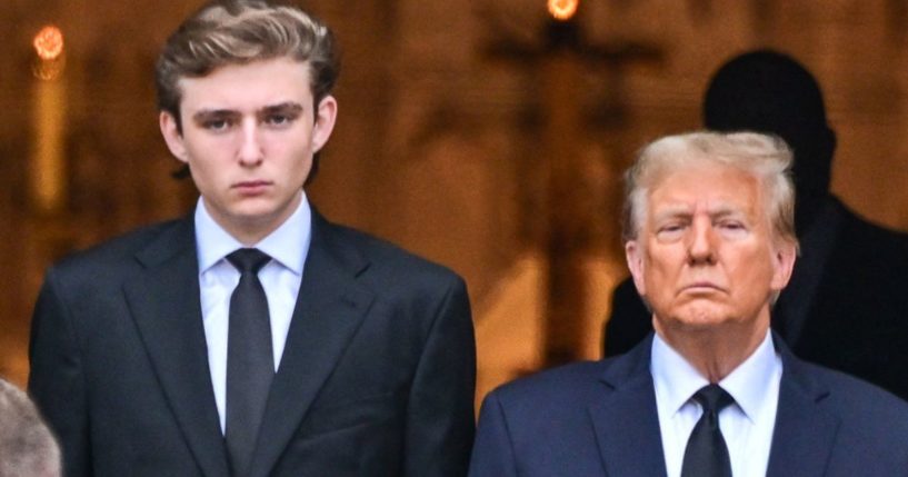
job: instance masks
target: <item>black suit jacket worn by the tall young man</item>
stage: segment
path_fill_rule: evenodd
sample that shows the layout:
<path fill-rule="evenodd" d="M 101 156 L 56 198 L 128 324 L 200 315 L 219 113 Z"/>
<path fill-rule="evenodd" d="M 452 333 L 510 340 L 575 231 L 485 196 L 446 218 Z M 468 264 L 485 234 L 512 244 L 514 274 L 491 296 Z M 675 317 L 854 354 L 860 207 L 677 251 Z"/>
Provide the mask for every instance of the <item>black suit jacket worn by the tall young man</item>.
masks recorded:
<path fill-rule="evenodd" d="M 198 277 L 191 217 L 48 271 L 29 390 L 68 476 L 228 475 Z M 251 475 L 463 475 L 475 372 L 459 277 L 313 212 Z"/>

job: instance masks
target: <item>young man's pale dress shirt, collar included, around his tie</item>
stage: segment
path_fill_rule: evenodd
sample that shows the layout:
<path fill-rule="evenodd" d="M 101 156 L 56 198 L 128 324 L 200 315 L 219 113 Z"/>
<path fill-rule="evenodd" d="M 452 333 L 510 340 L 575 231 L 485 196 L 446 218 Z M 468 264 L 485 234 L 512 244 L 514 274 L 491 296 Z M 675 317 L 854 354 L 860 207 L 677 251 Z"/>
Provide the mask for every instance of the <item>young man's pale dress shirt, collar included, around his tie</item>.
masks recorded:
<path fill-rule="evenodd" d="M 271 318 L 271 349 L 275 371 L 280 366 L 287 331 L 297 305 L 302 266 L 309 252 L 312 211 L 306 193 L 297 210 L 277 230 L 252 247 L 268 254 L 271 261 L 259 270 L 259 280 L 268 299 Z M 208 367 L 214 388 L 214 403 L 224 430 L 227 396 L 227 328 L 230 296 L 240 281 L 240 272 L 224 257 L 243 248 L 206 210 L 202 199 L 196 206 L 196 248 L 199 256 L 199 288 L 202 322 L 208 344 Z"/>

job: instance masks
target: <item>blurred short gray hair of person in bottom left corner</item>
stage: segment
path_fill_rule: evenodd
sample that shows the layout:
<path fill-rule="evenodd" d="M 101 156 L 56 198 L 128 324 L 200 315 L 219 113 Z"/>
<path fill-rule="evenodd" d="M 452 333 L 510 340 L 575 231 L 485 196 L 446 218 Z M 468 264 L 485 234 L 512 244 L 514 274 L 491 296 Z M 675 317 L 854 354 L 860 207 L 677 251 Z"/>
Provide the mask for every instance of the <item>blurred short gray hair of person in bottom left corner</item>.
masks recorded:
<path fill-rule="evenodd" d="M 0 477 L 62 475 L 60 448 L 28 396 L 0 378 Z"/>

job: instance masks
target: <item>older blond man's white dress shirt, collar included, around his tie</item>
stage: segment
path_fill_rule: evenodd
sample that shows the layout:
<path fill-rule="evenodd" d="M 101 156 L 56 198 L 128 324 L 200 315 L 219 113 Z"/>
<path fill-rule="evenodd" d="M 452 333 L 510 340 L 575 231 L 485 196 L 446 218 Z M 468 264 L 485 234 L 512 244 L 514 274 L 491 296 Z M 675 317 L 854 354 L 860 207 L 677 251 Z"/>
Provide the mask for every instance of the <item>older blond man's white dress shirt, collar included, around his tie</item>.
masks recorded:
<path fill-rule="evenodd" d="M 678 477 L 687 440 L 702 415 L 702 408 L 691 397 L 709 381 L 658 334 L 652 340 L 651 352 L 650 371 L 656 387 L 666 469 L 668 477 Z M 719 386 L 735 398 L 735 404 L 719 413 L 719 428 L 728 446 L 735 477 L 766 475 L 781 376 L 781 358 L 767 330 L 766 338 L 754 354 L 719 381 Z"/>

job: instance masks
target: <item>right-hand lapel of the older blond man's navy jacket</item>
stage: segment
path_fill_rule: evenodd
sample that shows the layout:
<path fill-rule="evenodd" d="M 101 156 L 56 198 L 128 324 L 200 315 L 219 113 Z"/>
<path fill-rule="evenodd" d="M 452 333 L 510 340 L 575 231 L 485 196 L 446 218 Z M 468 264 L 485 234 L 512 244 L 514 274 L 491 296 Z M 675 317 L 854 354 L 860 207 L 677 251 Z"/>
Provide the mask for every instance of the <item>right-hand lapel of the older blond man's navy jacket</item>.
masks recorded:
<path fill-rule="evenodd" d="M 811 379 L 804 364 L 778 337 L 775 338 L 776 348 L 782 356 L 782 379 L 766 475 L 822 476 L 838 433 L 839 418 L 820 406 L 829 390 Z"/>

